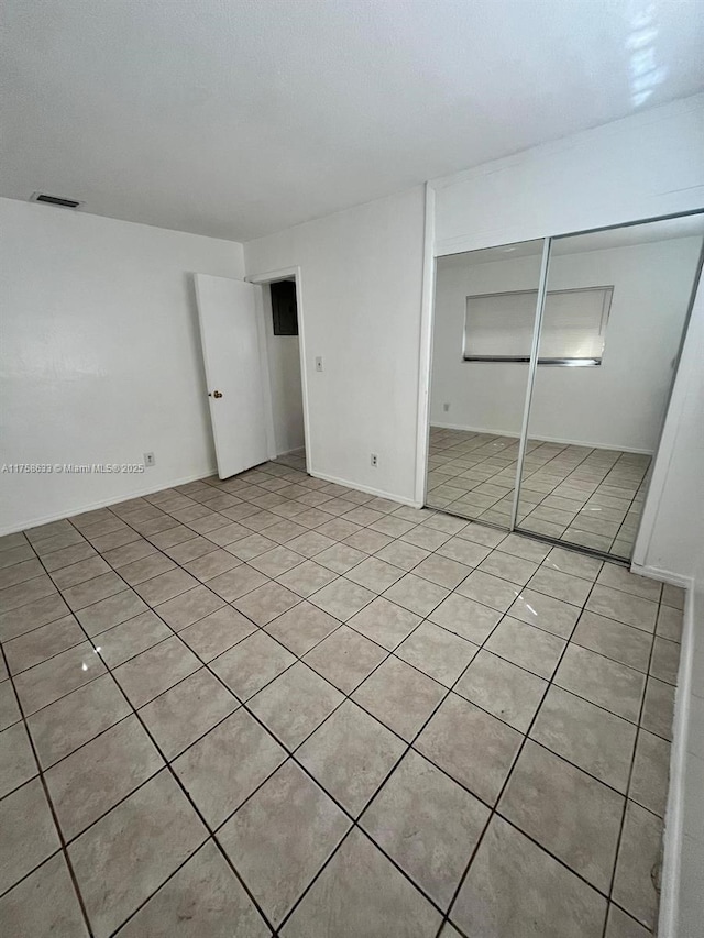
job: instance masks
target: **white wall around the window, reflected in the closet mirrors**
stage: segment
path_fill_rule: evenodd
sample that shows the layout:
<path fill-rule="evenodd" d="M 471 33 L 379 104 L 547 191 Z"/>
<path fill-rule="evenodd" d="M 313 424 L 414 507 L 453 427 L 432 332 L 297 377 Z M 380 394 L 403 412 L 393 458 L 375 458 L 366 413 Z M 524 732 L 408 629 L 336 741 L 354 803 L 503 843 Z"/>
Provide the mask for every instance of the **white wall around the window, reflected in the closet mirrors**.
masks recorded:
<path fill-rule="evenodd" d="M 682 238 L 552 257 L 549 289 L 612 284 L 614 295 L 600 367 L 538 368 L 531 437 L 653 452 L 701 246 Z M 472 294 L 537 289 L 539 274 L 539 256 L 439 260 L 432 423 L 520 433 L 528 365 L 463 362 L 464 310 Z"/>

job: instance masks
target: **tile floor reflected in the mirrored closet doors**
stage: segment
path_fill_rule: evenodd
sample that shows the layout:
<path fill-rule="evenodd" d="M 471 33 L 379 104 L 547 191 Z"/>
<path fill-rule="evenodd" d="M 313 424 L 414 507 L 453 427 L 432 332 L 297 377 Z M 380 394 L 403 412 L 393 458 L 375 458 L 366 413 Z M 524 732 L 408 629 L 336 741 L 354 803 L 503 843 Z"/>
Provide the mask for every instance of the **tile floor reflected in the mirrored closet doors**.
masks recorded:
<path fill-rule="evenodd" d="M 518 440 L 430 428 L 427 504 L 509 527 Z M 518 527 L 630 558 L 651 457 L 529 440 Z"/>

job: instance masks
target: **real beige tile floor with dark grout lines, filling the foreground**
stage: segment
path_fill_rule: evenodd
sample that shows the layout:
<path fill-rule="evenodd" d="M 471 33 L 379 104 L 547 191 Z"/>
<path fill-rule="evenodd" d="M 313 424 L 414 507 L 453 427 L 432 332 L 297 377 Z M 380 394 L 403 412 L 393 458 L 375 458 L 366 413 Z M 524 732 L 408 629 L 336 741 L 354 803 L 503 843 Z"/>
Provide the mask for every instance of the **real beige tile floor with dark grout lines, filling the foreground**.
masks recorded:
<path fill-rule="evenodd" d="M 0 591 L 6 934 L 652 934 L 681 591 L 272 463 Z"/>

